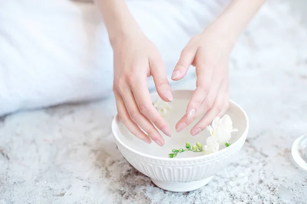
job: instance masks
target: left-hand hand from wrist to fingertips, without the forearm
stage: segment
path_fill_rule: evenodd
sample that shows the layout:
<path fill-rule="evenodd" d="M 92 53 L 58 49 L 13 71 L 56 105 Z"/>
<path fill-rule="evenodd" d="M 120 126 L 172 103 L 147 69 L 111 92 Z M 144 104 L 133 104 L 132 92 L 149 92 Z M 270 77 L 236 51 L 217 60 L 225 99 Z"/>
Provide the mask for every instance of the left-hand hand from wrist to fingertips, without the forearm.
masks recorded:
<path fill-rule="evenodd" d="M 150 143 L 152 139 L 158 145 L 164 145 L 164 139 L 153 124 L 169 137 L 170 127 L 153 107 L 147 88 L 147 77 L 152 75 L 159 96 L 165 101 L 173 99 L 157 47 L 141 31 L 125 36 L 112 46 L 113 91 L 120 120 L 143 141 Z"/>

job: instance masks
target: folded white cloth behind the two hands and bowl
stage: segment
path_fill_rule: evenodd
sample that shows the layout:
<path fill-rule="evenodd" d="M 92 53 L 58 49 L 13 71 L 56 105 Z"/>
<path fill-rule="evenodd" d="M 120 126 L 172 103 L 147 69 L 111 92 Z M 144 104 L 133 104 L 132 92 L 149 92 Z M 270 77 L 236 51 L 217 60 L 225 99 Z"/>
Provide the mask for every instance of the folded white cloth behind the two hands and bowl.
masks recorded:
<path fill-rule="evenodd" d="M 229 1 L 127 1 L 170 74 Z M 113 52 L 94 4 L 0 2 L 0 115 L 112 93 Z M 149 87 L 152 82 L 149 81 Z"/>

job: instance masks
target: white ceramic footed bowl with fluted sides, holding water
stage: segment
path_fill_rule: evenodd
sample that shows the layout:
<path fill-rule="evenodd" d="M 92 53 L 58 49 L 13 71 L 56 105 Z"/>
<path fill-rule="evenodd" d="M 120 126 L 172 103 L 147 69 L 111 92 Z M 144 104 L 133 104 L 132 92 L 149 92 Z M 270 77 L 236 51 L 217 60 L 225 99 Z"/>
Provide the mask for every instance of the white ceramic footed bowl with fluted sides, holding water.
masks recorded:
<path fill-rule="evenodd" d="M 186 127 L 180 134 L 176 133 L 174 126 L 185 114 L 193 91 L 176 90 L 172 93 L 174 97 L 173 107 L 165 117 L 171 126 L 172 137 L 169 138 L 161 133 L 165 139 L 163 147 L 154 142 L 147 144 L 131 135 L 118 119 L 118 115 L 113 119 L 112 131 L 119 150 L 132 166 L 149 176 L 152 182 L 162 189 L 185 192 L 208 184 L 214 174 L 235 160 L 246 140 L 249 121 L 245 111 L 236 103 L 230 101 L 227 114 L 233 121 L 233 127 L 239 131 L 232 133 L 229 147 L 222 147 L 219 151 L 209 155 L 204 155 L 202 152 L 183 152 L 176 158 L 168 158 L 171 149 L 185 148 L 187 141 L 191 145 L 196 142 L 205 144 L 209 136 L 207 130 L 194 137 L 190 135 L 190 130 L 196 121 Z M 157 93 L 152 93 L 151 98 L 155 101 L 159 96 Z"/>

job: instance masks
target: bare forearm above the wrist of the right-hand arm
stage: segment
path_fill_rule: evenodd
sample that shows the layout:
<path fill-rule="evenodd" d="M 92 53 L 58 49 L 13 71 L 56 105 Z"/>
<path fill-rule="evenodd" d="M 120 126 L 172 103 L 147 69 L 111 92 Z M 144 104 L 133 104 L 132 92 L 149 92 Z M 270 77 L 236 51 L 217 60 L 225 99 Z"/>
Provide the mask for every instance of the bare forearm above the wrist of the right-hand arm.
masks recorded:
<path fill-rule="evenodd" d="M 234 43 L 266 0 L 233 0 L 214 23 Z"/>

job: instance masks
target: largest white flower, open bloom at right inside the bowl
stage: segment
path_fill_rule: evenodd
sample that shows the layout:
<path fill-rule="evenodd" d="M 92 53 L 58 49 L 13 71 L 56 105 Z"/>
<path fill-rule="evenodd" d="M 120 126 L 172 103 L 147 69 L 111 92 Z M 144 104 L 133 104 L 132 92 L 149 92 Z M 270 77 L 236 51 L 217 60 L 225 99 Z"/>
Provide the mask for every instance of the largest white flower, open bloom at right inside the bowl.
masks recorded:
<path fill-rule="evenodd" d="M 211 137 L 216 138 L 217 143 L 220 145 L 225 145 L 231 138 L 231 133 L 238 131 L 233 129 L 232 120 L 229 115 L 225 115 L 221 119 L 215 117 L 212 121 L 212 126 L 208 125 L 207 130 L 210 132 Z"/>

